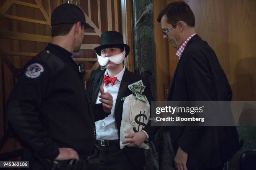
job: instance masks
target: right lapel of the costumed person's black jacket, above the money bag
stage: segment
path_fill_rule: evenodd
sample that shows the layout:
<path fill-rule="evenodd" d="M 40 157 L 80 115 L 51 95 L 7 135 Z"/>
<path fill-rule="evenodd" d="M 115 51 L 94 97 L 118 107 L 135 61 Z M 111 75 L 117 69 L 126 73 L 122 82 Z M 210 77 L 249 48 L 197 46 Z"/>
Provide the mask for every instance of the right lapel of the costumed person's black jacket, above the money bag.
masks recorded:
<path fill-rule="evenodd" d="M 129 82 L 131 81 L 129 78 L 129 71 L 127 70 L 127 68 L 125 68 L 125 72 L 123 73 L 123 78 L 121 80 L 121 84 L 119 87 L 119 91 L 118 91 L 118 96 L 116 97 L 116 101 L 115 101 L 115 113 L 116 110 L 118 108 L 119 103 L 121 102 L 121 98 L 123 97 L 125 91 L 127 90 L 127 86 L 129 85 Z"/>

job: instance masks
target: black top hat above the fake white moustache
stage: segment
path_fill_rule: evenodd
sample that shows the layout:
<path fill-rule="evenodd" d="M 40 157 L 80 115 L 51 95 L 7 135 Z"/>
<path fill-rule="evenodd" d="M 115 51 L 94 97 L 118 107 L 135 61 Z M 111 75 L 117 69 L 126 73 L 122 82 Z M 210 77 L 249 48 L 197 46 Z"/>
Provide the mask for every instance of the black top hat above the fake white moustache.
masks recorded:
<path fill-rule="evenodd" d="M 118 47 L 121 49 L 125 48 L 125 57 L 130 52 L 130 47 L 123 43 L 123 35 L 117 31 L 106 31 L 100 36 L 100 46 L 95 47 L 94 50 L 97 55 L 101 55 L 101 50 L 104 48 Z"/>

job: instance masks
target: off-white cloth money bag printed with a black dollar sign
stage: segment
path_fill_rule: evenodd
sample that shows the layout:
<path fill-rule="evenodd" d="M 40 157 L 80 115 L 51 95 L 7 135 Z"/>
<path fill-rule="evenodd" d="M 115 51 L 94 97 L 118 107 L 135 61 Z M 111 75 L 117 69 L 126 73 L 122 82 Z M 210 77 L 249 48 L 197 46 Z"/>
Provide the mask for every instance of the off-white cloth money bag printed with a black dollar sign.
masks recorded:
<path fill-rule="evenodd" d="M 144 95 L 143 95 L 144 96 Z M 133 95 L 129 95 L 125 98 L 123 102 L 123 115 L 120 128 L 120 148 L 123 149 L 125 145 L 123 144 L 125 140 L 130 138 L 125 138 L 126 135 L 131 135 L 136 132 L 140 132 L 148 123 L 150 116 L 150 105 L 146 99 L 146 102 L 137 100 Z M 137 146 L 138 148 L 148 149 L 146 143 L 142 143 Z"/>

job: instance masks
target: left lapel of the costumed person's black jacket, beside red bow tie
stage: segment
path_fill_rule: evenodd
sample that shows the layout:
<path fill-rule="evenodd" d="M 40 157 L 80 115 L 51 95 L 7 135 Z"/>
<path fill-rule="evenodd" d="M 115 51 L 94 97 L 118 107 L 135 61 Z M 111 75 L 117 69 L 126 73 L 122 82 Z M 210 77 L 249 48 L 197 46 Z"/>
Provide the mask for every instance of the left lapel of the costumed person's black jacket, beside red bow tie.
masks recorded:
<path fill-rule="evenodd" d="M 92 85 L 94 85 L 94 87 L 92 87 L 92 89 L 93 89 L 93 91 L 92 91 L 92 103 L 93 104 L 95 104 L 97 96 L 99 94 L 100 85 L 102 84 L 102 80 L 103 80 L 105 71 L 106 71 L 106 69 L 100 70 L 100 72 L 95 76 L 95 78 L 94 78 L 95 80 L 92 82 Z"/>

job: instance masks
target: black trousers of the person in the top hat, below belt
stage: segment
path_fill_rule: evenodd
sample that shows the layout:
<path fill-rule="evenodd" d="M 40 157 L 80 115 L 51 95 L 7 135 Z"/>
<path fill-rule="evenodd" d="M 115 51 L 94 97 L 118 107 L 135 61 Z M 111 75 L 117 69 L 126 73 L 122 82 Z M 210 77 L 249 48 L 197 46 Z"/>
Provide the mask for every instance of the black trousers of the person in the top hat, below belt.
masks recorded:
<path fill-rule="evenodd" d="M 120 146 L 100 148 L 98 170 L 137 170 Z"/>

